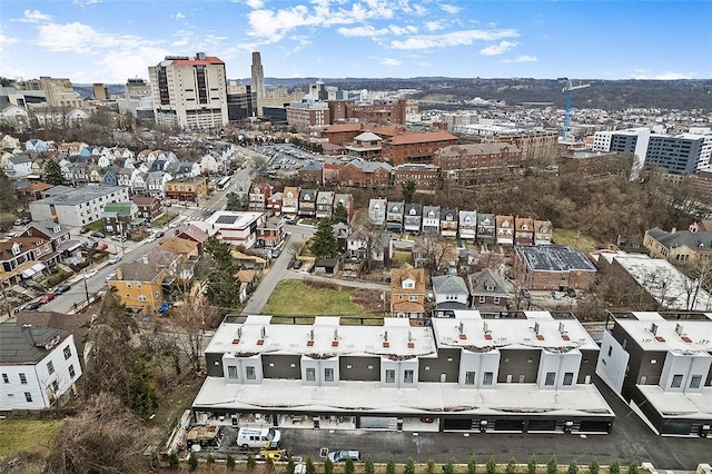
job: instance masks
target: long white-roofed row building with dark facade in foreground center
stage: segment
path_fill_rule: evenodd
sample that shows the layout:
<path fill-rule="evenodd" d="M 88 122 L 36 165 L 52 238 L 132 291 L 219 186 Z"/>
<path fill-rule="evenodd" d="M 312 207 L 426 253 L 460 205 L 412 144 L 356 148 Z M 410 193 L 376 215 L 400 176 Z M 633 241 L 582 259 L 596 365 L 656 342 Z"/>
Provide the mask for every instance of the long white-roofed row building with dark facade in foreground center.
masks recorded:
<path fill-rule="evenodd" d="M 228 317 L 205 350 L 192 413 L 329 429 L 605 434 L 614 414 L 591 384 L 597 354 L 570 314 L 456 310 L 432 327 Z"/>

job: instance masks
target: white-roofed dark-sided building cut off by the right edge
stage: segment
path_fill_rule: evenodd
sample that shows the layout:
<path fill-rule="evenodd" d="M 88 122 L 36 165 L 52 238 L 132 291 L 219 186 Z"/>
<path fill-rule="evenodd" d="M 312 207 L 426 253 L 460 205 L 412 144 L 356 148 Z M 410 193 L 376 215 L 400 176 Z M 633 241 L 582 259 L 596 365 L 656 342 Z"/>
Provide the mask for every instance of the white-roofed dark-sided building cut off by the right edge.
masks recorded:
<path fill-rule="evenodd" d="M 596 373 L 661 435 L 712 437 L 712 318 L 607 313 Z"/>

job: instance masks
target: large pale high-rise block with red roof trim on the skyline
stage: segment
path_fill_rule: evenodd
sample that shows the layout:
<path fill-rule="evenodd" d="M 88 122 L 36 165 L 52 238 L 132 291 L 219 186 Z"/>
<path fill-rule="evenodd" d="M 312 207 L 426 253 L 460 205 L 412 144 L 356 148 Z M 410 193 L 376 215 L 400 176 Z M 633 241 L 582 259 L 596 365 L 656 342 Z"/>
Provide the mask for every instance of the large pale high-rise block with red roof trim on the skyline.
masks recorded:
<path fill-rule="evenodd" d="M 158 125 L 187 129 L 228 124 L 225 62 L 198 52 L 195 58 L 167 56 L 148 68 Z"/>

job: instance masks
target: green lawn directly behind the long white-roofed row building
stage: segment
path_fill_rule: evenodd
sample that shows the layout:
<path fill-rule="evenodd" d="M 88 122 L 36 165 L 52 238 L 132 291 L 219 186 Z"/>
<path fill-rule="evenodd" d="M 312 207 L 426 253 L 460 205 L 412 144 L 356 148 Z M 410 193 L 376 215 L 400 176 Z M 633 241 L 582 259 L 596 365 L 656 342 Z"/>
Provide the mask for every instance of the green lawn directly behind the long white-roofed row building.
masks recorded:
<path fill-rule="evenodd" d="M 354 289 L 316 288 L 299 280 L 281 280 L 265 314 L 281 316 L 360 316 L 364 309 L 350 300 Z"/>

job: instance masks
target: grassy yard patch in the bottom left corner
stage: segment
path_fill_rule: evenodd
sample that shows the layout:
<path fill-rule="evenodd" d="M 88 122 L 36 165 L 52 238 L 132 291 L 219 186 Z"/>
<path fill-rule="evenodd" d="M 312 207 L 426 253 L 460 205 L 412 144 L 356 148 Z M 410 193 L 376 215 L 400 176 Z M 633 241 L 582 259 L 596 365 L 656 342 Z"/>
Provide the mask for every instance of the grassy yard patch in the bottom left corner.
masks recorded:
<path fill-rule="evenodd" d="M 61 419 L 0 421 L 0 457 L 24 450 L 49 454 L 52 438 L 61 425 Z"/>

